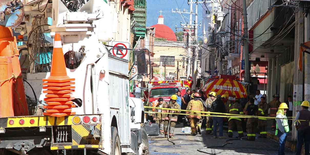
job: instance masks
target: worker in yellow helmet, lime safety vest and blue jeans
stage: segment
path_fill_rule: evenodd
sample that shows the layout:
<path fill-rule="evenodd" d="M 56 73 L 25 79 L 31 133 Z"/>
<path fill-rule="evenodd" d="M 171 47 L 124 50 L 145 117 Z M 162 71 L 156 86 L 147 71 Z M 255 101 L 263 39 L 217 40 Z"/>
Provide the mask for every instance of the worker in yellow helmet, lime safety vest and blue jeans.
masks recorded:
<path fill-rule="evenodd" d="M 287 132 L 290 131 L 289 123 L 286 117 L 286 109 L 288 109 L 287 104 L 281 103 L 276 115 L 277 123 L 276 123 L 275 135 L 279 137 L 279 149 L 278 149 L 279 155 L 284 154 Z"/>

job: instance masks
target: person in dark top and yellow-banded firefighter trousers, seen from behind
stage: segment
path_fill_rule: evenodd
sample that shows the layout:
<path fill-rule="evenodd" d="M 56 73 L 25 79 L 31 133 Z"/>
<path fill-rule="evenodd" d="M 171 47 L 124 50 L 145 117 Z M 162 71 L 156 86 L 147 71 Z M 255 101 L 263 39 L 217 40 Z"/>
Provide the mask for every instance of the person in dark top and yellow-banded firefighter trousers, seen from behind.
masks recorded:
<path fill-rule="evenodd" d="M 250 104 L 246 109 L 246 115 L 255 116 L 258 111 L 258 106 L 254 104 L 254 99 L 250 98 Z M 256 136 L 256 127 L 257 127 L 257 118 L 245 118 L 247 119 L 246 128 L 247 128 L 247 137 L 248 140 L 255 141 Z"/>

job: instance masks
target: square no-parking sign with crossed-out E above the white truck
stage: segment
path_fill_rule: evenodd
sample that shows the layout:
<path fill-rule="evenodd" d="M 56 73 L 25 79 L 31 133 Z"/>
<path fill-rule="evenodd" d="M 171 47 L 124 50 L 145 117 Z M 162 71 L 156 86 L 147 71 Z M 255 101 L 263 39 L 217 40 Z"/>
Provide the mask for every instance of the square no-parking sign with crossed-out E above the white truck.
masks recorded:
<path fill-rule="evenodd" d="M 128 60 L 129 52 L 128 50 L 122 48 L 129 48 L 129 42 L 112 41 L 112 46 L 112 54 L 114 56 Z"/>

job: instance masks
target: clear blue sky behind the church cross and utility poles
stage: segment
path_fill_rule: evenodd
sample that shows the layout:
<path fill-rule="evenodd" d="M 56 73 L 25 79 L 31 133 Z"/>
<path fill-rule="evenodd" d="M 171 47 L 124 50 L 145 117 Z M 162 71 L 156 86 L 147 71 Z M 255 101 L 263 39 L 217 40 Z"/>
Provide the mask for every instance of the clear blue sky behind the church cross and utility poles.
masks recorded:
<path fill-rule="evenodd" d="M 189 5 L 187 4 L 187 0 L 146 0 L 146 26 L 152 26 L 157 24 L 158 15 L 160 15 L 160 10 L 162 10 L 162 15 L 164 16 L 164 24 L 169 26 L 175 32 L 175 25 L 180 27 L 180 21 L 182 20 L 182 24 L 184 24 L 184 20 L 182 16 L 178 13 L 171 13 L 171 9 L 175 10 L 175 8 L 188 10 Z M 195 5 L 193 4 L 193 12 L 195 13 Z M 198 4 L 198 24 L 202 20 L 202 14 L 205 12 L 202 6 L 203 4 Z M 185 17 L 185 21 L 189 22 L 189 14 L 183 14 Z M 187 18 L 188 19 L 187 19 Z M 195 14 L 193 14 L 193 21 L 195 20 Z M 192 23 L 194 24 L 194 22 Z M 180 31 L 180 29 L 178 30 Z M 202 28 L 198 27 L 198 36 L 202 36 Z"/>

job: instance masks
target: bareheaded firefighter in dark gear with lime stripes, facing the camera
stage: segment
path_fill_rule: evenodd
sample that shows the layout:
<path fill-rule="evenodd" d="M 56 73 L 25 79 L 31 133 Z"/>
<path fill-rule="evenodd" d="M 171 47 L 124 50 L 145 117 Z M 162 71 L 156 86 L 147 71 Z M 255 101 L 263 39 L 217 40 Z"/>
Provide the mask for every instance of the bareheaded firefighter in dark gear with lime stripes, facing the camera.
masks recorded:
<path fill-rule="evenodd" d="M 260 102 L 258 103 L 257 116 L 267 117 L 268 114 L 268 104 L 265 102 L 265 97 L 260 97 Z M 267 138 L 267 118 L 258 118 L 258 128 L 261 138 Z"/>

